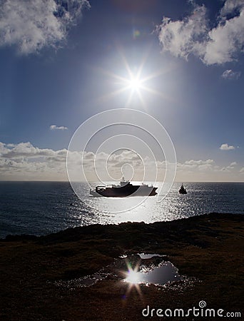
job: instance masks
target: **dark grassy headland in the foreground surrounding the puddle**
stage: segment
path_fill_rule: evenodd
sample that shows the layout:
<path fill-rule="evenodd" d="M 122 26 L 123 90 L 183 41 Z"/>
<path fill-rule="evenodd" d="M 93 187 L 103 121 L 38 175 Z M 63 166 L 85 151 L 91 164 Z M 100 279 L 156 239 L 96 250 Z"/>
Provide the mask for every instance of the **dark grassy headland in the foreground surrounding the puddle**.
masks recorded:
<path fill-rule="evenodd" d="M 9 235 L 0 240 L 0 318 L 141 320 L 148 305 L 187 309 L 200 300 L 208 308 L 243 316 L 243 223 L 242 214 L 210 213 L 149 224 L 86 225 L 43 236 Z M 136 287 L 128 293 L 119 277 L 73 290 L 54 285 L 92 275 L 113 266 L 121 255 L 137 253 L 166 255 L 181 275 L 195 282 L 138 285 L 140 295 Z"/>

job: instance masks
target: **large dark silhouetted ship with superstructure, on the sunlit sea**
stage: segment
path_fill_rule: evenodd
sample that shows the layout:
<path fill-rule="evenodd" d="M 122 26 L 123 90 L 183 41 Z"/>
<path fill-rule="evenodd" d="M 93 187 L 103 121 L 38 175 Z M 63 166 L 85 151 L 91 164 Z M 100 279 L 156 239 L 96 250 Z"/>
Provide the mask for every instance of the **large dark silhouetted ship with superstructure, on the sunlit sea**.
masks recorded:
<path fill-rule="evenodd" d="M 154 196 L 157 188 L 147 184 L 133 185 L 129 180 L 121 180 L 119 185 L 96 186 L 94 190 L 90 189 L 92 196 L 104 196 L 107 198 L 125 198 L 128 196 Z"/>

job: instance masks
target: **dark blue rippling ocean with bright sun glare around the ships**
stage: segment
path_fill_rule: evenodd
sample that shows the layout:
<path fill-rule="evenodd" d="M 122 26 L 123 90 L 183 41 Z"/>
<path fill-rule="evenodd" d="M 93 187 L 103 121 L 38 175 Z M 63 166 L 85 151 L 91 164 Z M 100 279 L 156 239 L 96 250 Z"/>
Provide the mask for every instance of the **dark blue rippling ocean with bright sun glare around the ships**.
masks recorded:
<path fill-rule="evenodd" d="M 158 202 L 156 196 L 145 200 L 93 198 L 86 183 L 79 184 L 79 199 L 68 182 L 1 181 L 0 238 L 9 234 L 46 235 L 96 223 L 153 223 L 211 212 L 244 213 L 244 183 L 184 185 L 188 194 L 179 194 L 181 184 L 174 183 L 166 198 Z"/>

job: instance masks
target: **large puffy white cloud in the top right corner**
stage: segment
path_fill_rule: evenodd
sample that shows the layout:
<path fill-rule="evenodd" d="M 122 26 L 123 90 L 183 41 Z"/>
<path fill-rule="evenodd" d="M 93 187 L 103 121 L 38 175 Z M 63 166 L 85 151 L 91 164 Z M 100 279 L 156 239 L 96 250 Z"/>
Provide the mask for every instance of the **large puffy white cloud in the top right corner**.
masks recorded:
<path fill-rule="evenodd" d="M 183 20 L 163 18 L 158 28 L 163 52 L 185 59 L 193 54 L 207 65 L 236 60 L 244 46 L 244 2 L 225 1 L 212 29 L 205 6 L 193 6 L 193 13 Z"/>

